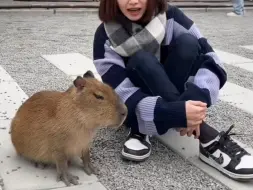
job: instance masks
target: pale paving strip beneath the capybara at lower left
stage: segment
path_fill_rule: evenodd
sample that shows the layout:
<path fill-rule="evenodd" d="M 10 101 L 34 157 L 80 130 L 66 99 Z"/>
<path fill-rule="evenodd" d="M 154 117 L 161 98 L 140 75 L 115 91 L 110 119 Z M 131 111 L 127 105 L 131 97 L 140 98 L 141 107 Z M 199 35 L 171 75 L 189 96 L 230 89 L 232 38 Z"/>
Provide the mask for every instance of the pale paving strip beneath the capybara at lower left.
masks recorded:
<path fill-rule="evenodd" d="M 11 118 L 22 101 L 27 98 L 25 92 L 0 66 L 0 176 L 4 179 L 5 190 L 41 190 L 65 187 L 63 182 L 56 182 L 55 168 L 44 170 L 35 168 L 29 161 L 17 156 L 11 143 L 9 134 Z M 70 172 L 78 175 L 83 185 L 93 183 L 99 185 L 96 184 L 97 177 L 86 175 L 81 165 L 76 168 L 71 167 Z M 104 190 L 104 188 L 98 190 Z"/>

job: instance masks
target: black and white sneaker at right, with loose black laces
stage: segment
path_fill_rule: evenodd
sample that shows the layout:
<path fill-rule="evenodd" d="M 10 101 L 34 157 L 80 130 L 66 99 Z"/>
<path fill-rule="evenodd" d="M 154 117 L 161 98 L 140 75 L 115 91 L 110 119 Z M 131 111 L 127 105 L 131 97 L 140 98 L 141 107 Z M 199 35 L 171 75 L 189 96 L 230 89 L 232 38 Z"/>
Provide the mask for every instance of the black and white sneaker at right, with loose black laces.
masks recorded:
<path fill-rule="evenodd" d="M 234 180 L 252 180 L 253 156 L 230 138 L 233 127 L 209 143 L 200 143 L 199 158 Z"/>

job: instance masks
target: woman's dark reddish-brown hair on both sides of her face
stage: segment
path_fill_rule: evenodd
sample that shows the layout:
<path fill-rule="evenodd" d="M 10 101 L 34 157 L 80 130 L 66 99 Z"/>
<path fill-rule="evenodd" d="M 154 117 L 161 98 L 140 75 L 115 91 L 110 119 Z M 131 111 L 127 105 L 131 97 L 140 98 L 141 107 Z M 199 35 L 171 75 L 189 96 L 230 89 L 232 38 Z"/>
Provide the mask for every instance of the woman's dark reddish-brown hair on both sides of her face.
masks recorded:
<path fill-rule="evenodd" d="M 147 10 L 143 17 L 142 22 L 149 22 L 152 16 L 159 13 L 164 13 L 167 10 L 167 0 L 147 0 Z M 102 22 L 115 21 L 121 14 L 117 0 L 100 0 L 99 6 L 99 19 Z"/>

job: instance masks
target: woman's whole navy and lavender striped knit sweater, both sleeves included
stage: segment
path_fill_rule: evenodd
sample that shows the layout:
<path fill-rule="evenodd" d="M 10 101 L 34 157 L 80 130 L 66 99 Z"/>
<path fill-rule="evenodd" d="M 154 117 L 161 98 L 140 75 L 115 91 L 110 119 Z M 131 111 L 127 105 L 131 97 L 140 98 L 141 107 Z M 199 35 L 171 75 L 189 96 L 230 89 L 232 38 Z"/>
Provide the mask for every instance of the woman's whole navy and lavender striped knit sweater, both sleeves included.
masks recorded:
<path fill-rule="evenodd" d="M 170 46 L 173 38 L 190 33 L 195 36 L 208 59 L 202 64 L 188 89 L 187 99 L 201 100 L 208 106 L 215 104 L 219 90 L 227 80 L 223 63 L 195 23 L 180 9 L 169 6 L 166 35 L 163 46 Z M 169 128 L 186 127 L 185 102 L 166 102 L 159 96 L 150 96 L 134 86 L 125 71 L 124 58 L 110 48 L 104 25 L 101 23 L 94 36 L 93 59 L 103 82 L 111 85 L 128 107 L 128 123 L 148 135 L 164 134 Z M 197 88 L 196 88 L 197 87 Z"/>

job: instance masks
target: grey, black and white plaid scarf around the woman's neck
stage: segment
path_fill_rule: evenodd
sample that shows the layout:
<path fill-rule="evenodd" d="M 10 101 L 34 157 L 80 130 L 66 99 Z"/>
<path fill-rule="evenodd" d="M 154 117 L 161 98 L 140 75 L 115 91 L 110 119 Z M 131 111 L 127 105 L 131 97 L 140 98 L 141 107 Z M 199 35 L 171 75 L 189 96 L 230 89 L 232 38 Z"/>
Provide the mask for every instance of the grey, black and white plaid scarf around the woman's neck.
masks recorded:
<path fill-rule="evenodd" d="M 158 14 L 143 27 L 128 19 L 105 23 L 111 48 L 123 57 L 129 57 L 139 50 L 152 53 L 160 59 L 160 45 L 165 36 L 166 14 Z"/>

